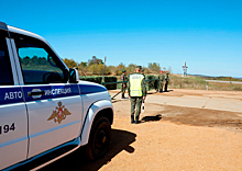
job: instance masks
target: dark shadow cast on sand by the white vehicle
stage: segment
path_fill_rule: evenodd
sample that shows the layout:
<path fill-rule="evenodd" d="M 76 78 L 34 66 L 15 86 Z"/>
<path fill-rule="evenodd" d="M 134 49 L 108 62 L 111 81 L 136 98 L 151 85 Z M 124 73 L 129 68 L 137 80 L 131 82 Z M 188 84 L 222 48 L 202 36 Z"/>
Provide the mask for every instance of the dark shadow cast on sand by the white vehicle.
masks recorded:
<path fill-rule="evenodd" d="M 44 167 L 41 171 L 50 170 L 68 170 L 68 171 L 96 171 L 99 170 L 102 166 L 107 164 L 122 150 L 125 150 L 129 153 L 134 152 L 134 148 L 130 145 L 135 141 L 136 134 L 131 132 L 112 129 L 111 130 L 111 140 L 110 147 L 106 156 L 99 160 L 90 161 L 85 157 L 85 147 L 79 148 L 73 153 Z"/>

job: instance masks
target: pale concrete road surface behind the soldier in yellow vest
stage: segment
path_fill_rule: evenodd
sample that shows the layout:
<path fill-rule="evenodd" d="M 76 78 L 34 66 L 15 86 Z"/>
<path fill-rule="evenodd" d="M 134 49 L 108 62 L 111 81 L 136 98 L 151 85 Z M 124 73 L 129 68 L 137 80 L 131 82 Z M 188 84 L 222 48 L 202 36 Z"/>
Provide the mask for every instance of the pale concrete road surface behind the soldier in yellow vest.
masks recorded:
<path fill-rule="evenodd" d="M 145 102 L 163 105 L 242 112 L 242 92 L 174 89 L 170 92 L 150 91 Z M 116 93 L 112 91 L 111 96 Z M 152 98 L 151 98 L 152 96 Z M 121 99 L 118 95 L 116 99 Z"/>

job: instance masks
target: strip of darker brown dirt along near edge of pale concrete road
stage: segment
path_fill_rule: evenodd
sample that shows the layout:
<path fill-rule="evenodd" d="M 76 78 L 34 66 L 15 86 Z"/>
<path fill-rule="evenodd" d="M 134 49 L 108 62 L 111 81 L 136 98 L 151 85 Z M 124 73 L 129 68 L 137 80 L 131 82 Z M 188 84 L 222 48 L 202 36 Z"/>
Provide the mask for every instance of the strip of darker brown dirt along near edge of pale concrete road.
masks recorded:
<path fill-rule="evenodd" d="M 191 126 L 242 129 L 242 113 L 166 105 L 163 121 Z"/>

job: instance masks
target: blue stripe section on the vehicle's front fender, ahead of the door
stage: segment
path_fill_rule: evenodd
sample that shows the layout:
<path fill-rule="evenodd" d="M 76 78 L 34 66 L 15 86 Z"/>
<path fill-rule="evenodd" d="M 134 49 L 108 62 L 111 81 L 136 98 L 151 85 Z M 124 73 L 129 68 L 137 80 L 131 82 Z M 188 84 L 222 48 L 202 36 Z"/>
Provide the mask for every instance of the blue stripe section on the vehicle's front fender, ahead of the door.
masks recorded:
<path fill-rule="evenodd" d="M 96 84 L 79 84 L 80 94 L 90 94 L 107 91 L 107 89 L 102 86 Z"/>

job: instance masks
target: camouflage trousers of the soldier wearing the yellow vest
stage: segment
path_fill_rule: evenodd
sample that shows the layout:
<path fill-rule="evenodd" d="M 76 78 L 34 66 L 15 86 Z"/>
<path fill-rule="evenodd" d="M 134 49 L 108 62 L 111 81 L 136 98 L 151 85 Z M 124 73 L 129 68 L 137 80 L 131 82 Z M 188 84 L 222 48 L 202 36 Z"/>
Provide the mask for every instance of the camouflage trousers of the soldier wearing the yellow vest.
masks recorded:
<path fill-rule="evenodd" d="M 134 116 L 135 107 L 136 107 L 136 114 L 135 118 L 139 119 L 139 116 L 141 114 L 141 105 L 142 105 L 143 96 L 131 96 L 131 117 Z"/>

